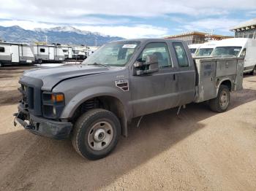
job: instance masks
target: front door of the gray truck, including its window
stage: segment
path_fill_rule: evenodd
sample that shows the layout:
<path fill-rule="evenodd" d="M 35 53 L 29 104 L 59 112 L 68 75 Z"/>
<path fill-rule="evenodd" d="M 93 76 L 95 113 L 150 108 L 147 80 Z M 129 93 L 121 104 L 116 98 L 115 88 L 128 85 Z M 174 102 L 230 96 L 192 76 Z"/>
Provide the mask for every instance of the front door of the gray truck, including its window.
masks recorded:
<path fill-rule="evenodd" d="M 146 44 L 138 57 L 145 61 L 146 55 L 156 55 L 159 71 L 130 79 L 133 117 L 158 112 L 177 105 L 176 69 L 173 68 L 170 49 L 165 42 Z"/>

